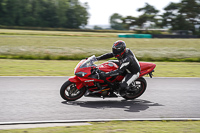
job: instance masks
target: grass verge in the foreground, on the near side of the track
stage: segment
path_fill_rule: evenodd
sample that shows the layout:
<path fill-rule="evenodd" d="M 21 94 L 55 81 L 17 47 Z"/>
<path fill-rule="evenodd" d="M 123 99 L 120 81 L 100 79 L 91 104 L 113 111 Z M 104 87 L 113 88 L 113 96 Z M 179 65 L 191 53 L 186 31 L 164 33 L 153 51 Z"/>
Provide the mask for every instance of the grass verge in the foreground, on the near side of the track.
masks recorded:
<path fill-rule="evenodd" d="M 200 121 L 111 121 L 88 126 L 0 130 L 0 133 L 199 133 Z"/>

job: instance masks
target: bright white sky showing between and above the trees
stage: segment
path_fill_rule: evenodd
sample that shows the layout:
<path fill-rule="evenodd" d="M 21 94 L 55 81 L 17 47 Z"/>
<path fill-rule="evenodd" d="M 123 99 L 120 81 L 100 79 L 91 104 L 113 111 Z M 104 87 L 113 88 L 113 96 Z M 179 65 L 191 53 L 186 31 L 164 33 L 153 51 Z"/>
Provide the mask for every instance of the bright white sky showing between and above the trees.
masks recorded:
<path fill-rule="evenodd" d="M 88 25 L 109 25 L 110 16 L 118 13 L 123 17 L 139 16 L 142 12 L 138 12 L 138 8 L 149 3 L 154 6 L 160 13 L 163 13 L 163 8 L 171 2 L 180 2 L 181 0 L 79 0 L 81 3 L 87 2 L 89 5 L 88 12 L 90 18 Z"/>

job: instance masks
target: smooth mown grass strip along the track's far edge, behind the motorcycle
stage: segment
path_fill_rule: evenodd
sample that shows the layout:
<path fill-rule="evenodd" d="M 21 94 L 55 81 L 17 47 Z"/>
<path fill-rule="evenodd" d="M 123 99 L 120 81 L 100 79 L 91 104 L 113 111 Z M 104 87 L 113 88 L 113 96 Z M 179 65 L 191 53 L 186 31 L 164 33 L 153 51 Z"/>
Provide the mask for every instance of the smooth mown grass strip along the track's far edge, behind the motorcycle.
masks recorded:
<path fill-rule="evenodd" d="M 72 76 L 78 62 L 0 59 L 0 76 Z M 155 77 L 200 77 L 199 62 L 153 63 L 157 65 L 153 73 Z"/>

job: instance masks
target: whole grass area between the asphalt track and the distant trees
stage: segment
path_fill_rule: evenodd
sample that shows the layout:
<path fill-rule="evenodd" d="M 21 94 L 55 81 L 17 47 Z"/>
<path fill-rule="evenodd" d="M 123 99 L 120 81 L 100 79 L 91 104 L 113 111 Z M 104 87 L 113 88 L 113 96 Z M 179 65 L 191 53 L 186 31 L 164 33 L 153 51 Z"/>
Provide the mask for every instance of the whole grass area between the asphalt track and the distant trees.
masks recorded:
<path fill-rule="evenodd" d="M 113 42 L 123 39 L 140 61 L 174 61 L 155 62 L 156 77 L 199 77 L 200 39 L 117 38 L 118 34 L 0 29 L 0 76 L 70 76 L 80 59 L 111 52 Z"/>

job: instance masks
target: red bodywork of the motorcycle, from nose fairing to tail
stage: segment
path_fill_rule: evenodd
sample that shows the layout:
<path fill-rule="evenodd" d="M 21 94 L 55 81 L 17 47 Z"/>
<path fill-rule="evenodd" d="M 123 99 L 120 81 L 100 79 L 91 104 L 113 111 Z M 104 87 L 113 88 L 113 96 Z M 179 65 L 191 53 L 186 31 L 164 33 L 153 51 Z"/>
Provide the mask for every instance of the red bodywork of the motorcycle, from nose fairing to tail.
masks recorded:
<path fill-rule="evenodd" d="M 96 67 L 104 72 L 110 72 L 110 71 L 114 71 L 116 69 L 118 69 L 117 64 L 113 63 L 113 62 L 105 62 L 102 63 L 98 66 L 95 66 L 94 64 L 91 64 L 92 62 L 92 57 L 90 57 L 89 59 L 85 59 L 82 60 L 78 63 L 78 65 L 75 68 L 75 74 L 76 76 L 74 77 L 70 77 L 69 81 L 73 82 L 76 84 L 77 89 L 81 89 L 85 86 L 87 87 L 92 87 L 94 86 L 95 82 L 98 83 L 104 83 L 104 80 L 102 79 L 98 79 L 97 77 L 93 78 L 90 77 L 90 75 L 92 74 L 92 70 L 94 70 Z M 153 71 L 153 69 L 156 67 L 155 64 L 153 63 L 148 63 L 148 62 L 139 62 L 140 67 L 141 67 L 141 72 L 140 72 L 140 77 L 150 73 Z M 120 82 L 122 81 L 124 78 L 124 76 L 119 75 L 117 77 L 107 77 L 107 81 L 109 82 Z"/>

